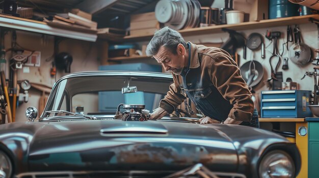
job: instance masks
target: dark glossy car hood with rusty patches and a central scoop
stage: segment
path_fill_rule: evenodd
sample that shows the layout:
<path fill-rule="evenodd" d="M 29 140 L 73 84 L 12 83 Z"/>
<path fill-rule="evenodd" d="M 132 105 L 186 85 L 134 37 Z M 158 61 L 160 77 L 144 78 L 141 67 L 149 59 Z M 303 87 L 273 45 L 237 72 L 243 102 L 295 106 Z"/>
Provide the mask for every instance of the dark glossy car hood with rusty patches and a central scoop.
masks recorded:
<path fill-rule="evenodd" d="M 32 171 L 84 170 L 88 165 L 99 170 L 181 169 L 198 162 L 236 171 L 238 164 L 232 141 L 205 125 L 121 120 L 38 124 L 29 150 Z"/>

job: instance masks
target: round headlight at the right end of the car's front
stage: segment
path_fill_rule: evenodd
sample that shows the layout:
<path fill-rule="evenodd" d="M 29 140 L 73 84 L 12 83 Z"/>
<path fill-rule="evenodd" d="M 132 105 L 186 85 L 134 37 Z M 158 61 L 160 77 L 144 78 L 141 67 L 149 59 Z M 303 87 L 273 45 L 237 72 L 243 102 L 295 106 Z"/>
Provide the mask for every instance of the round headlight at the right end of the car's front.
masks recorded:
<path fill-rule="evenodd" d="M 275 150 L 267 153 L 259 164 L 260 178 L 292 178 L 295 177 L 293 159 L 283 151 Z"/>

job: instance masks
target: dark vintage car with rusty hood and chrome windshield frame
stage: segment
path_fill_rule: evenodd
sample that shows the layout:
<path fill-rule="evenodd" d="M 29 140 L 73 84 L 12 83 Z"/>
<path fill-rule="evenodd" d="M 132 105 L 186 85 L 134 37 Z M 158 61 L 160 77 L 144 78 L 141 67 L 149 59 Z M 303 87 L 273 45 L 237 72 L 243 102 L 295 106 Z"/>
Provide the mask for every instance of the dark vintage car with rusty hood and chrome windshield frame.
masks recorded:
<path fill-rule="evenodd" d="M 190 110 L 149 120 L 170 74 L 61 78 L 39 119 L 0 125 L 0 177 L 296 177 L 294 143 L 241 125 L 199 124 Z M 184 115 L 183 115 L 184 113 Z"/>

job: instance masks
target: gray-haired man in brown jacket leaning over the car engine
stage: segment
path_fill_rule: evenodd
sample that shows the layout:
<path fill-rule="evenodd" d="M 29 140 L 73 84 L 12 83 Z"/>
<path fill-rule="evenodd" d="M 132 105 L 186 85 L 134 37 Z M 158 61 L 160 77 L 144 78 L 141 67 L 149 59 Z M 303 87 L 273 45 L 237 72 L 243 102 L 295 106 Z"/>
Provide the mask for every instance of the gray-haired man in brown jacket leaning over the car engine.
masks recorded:
<path fill-rule="evenodd" d="M 146 54 L 171 70 L 174 83 L 150 119 L 161 119 L 189 97 L 206 116 L 201 124 L 259 127 L 251 92 L 230 55 L 215 47 L 186 43 L 169 27 L 155 32 Z"/>

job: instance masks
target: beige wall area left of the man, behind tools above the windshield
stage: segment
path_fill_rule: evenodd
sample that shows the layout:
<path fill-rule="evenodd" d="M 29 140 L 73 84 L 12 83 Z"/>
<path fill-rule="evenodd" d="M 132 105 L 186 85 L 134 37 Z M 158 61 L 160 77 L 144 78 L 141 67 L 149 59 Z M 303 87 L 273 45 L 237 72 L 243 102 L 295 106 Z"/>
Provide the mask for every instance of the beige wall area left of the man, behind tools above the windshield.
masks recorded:
<path fill-rule="evenodd" d="M 17 43 L 25 49 L 41 51 L 41 66 L 30 67 L 30 73 L 23 73 L 22 69 L 18 70 L 18 80 L 29 80 L 31 83 L 42 83 L 53 86 L 55 78 L 50 77 L 51 62 L 46 61 L 53 54 L 54 37 L 51 35 L 42 35 L 39 33 L 17 31 Z M 6 49 L 11 48 L 11 32 L 5 36 Z M 73 57 L 71 64 L 71 73 L 82 72 L 88 70 L 98 70 L 99 60 L 97 57 L 97 43 L 65 39 L 59 45 L 60 52 L 68 52 Z M 7 65 L 11 57 L 11 52 L 7 52 Z M 57 70 L 57 80 L 66 75 L 64 71 Z M 9 77 L 9 69 L 7 69 L 6 78 Z M 24 111 L 29 106 L 39 108 L 38 103 L 42 92 L 36 89 L 29 90 L 29 102 L 22 103 L 16 111 L 16 121 L 26 121 Z M 12 103 L 11 103 L 12 105 Z"/>

